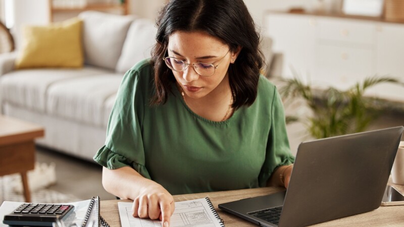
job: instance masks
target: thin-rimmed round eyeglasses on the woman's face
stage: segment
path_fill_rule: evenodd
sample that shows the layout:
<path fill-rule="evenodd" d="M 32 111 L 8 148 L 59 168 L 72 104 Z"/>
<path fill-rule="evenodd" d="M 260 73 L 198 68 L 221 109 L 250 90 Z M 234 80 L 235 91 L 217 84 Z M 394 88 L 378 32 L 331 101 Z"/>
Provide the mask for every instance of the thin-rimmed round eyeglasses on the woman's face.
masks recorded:
<path fill-rule="evenodd" d="M 170 68 L 171 70 L 174 70 L 176 72 L 182 72 L 184 71 L 188 66 L 192 66 L 193 69 L 195 70 L 195 72 L 197 74 L 199 74 L 200 76 L 204 76 L 204 77 L 210 77 L 213 74 L 215 74 L 216 69 L 218 68 L 218 66 L 223 62 L 224 57 L 230 52 L 230 49 L 227 51 L 227 53 L 223 56 L 223 58 L 221 59 L 220 63 L 217 64 L 216 66 L 213 64 L 209 64 L 209 63 L 202 63 L 202 62 L 197 62 L 194 64 L 188 64 L 185 63 L 182 60 L 179 60 L 177 58 L 174 57 L 164 57 L 163 60 L 166 63 L 166 65 L 168 66 L 168 68 Z"/>

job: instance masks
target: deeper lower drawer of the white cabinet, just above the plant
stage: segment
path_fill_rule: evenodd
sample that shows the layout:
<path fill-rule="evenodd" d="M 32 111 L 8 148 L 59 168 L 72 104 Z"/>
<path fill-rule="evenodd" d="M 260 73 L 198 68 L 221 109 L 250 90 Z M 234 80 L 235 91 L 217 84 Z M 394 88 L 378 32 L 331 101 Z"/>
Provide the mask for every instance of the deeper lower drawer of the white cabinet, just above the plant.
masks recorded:
<path fill-rule="evenodd" d="M 347 89 L 373 76 L 372 49 L 348 48 L 320 44 L 313 83 Z"/>

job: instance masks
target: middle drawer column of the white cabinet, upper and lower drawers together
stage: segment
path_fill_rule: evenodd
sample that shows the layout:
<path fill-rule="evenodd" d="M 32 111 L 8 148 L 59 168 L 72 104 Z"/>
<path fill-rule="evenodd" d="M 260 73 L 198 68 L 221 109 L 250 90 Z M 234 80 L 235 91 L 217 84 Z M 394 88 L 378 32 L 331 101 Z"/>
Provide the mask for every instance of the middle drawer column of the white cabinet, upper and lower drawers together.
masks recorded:
<path fill-rule="evenodd" d="M 372 23 L 321 18 L 313 79 L 317 84 L 347 89 L 375 72 Z"/>

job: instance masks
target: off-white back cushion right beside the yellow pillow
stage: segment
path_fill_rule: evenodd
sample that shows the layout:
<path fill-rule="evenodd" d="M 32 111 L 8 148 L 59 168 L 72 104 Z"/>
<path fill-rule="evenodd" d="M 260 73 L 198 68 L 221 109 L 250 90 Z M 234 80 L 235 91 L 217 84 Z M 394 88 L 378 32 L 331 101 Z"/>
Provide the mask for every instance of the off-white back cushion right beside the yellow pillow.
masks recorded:
<path fill-rule="evenodd" d="M 115 70 L 133 17 L 85 11 L 79 18 L 83 20 L 85 63 Z"/>

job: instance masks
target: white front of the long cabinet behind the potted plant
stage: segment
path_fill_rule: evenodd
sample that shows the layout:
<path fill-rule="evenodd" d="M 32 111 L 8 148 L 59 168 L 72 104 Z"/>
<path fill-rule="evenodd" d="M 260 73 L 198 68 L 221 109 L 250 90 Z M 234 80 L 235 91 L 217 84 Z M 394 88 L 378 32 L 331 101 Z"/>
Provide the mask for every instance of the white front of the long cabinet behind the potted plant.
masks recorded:
<path fill-rule="evenodd" d="M 283 75 L 313 85 L 347 89 L 373 75 L 404 81 L 404 24 L 381 21 L 268 13 L 266 34 L 284 55 Z M 404 102 L 404 86 L 384 84 L 369 95 Z"/>

